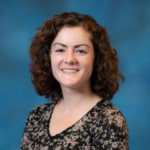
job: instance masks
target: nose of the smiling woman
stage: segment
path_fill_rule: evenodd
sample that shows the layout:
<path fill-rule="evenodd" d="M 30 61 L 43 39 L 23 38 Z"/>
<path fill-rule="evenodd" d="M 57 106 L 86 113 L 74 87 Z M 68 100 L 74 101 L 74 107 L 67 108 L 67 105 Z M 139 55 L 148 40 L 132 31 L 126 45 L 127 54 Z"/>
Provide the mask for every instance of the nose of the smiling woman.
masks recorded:
<path fill-rule="evenodd" d="M 77 64 L 77 59 L 75 56 L 75 53 L 73 50 L 68 50 L 68 52 L 65 55 L 65 61 L 66 64 Z"/>

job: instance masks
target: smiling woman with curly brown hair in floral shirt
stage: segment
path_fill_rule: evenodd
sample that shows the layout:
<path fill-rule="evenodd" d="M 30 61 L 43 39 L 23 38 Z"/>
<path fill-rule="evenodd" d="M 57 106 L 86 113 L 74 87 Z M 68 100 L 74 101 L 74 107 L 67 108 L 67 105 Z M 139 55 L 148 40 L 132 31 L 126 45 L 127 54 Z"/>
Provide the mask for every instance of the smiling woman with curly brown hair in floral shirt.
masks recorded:
<path fill-rule="evenodd" d="M 88 15 L 54 15 L 30 56 L 34 88 L 53 102 L 29 113 L 22 150 L 128 149 L 125 118 L 109 101 L 124 77 L 102 26 Z"/>

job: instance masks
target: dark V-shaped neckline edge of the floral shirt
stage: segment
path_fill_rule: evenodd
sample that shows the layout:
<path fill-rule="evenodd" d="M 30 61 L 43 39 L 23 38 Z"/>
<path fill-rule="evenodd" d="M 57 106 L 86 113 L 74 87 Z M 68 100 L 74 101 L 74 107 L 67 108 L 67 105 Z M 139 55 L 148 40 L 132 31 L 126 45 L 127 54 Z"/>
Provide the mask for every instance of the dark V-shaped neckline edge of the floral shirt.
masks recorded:
<path fill-rule="evenodd" d="M 51 121 L 51 117 L 52 117 L 52 114 L 53 114 L 53 110 L 57 104 L 57 101 L 54 102 L 54 104 L 52 105 L 52 109 L 51 109 L 51 112 L 50 112 L 50 116 L 49 116 L 49 119 L 48 119 L 48 126 L 47 126 L 47 132 L 48 132 L 48 135 L 49 137 L 52 139 L 52 138 L 56 138 L 58 136 L 60 136 L 61 134 L 67 132 L 70 128 L 73 128 L 78 122 L 80 122 L 81 120 L 83 120 L 83 118 L 85 116 L 87 116 L 89 113 L 91 113 L 99 104 L 101 104 L 102 102 L 104 101 L 104 99 L 102 99 L 101 101 L 97 102 L 96 105 L 94 105 L 84 116 L 82 116 L 78 121 L 76 121 L 73 125 L 69 126 L 68 128 L 64 129 L 62 132 L 60 133 L 57 133 L 55 135 L 51 135 L 50 134 L 50 121 Z"/>

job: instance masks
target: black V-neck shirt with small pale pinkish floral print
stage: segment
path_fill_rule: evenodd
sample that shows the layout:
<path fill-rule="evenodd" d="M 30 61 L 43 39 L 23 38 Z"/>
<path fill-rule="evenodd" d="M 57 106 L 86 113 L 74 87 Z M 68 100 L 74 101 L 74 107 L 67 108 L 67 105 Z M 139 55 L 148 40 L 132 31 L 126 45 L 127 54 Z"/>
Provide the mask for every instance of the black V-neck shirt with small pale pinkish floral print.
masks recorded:
<path fill-rule="evenodd" d="M 110 101 L 99 101 L 75 124 L 51 136 L 55 105 L 39 105 L 29 113 L 21 150 L 128 150 L 126 120 Z"/>

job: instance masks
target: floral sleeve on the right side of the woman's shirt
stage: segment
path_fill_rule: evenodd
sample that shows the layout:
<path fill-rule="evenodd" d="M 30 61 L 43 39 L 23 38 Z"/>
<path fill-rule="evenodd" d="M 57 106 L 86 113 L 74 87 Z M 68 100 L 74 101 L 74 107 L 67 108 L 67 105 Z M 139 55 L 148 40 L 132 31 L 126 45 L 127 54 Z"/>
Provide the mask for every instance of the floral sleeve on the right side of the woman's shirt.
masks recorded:
<path fill-rule="evenodd" d="M 106 115 L 107 116 L 107 115 Z M 129 150 L 128 128 L 120 111 L 109 113 L 96 124 L 94 150 Z"/>

